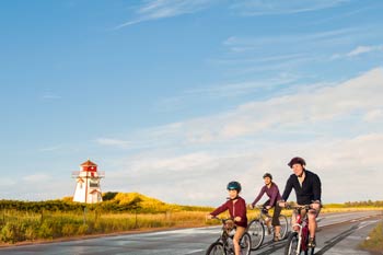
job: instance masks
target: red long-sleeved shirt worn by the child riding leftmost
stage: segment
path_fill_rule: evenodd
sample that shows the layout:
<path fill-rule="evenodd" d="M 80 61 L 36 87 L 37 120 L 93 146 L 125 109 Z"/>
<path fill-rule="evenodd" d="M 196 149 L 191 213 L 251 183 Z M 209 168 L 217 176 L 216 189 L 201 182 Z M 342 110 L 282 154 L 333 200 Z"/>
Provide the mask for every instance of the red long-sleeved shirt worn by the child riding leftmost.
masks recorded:
<path fill-rule="evenodd" d="M 241 225 L 243 228 L 247 227 L 247 216 L 246 216 L 246 202 L 245 199 L 242 197 L 237 197 L 236 201 L 228 200 L 222 206 L 218 207 L 210 215 L 218 216 L 219 213 L 222 213 L 223 211 L 229 210 L 230 217 L 241 217 L 241 221 L 235 221 L 235 224 Z"/>

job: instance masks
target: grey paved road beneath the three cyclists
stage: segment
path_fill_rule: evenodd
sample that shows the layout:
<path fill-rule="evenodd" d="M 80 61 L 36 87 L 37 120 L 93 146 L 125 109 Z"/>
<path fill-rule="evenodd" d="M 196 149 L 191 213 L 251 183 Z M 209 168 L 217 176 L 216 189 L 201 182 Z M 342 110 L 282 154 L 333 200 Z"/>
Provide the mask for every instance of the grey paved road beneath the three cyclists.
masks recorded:
<path fill-rule="evenodd" d="M 383 219 L 382 211 L 326 213 L 321 216 L 315 254 L 367 255 L 357 245 L 368 236 L 372 228 Z M 0 254 L 53 254 L 53 255 L 202 255 L 219 235 L 219 227 L 183 229 L 141 234 L 125 234 L 68 242 L 22 245 L 0 248 Z M 265 244 L 252 254 L 282 254 L 286 241 L 272 243 L 266 236 Z"/>

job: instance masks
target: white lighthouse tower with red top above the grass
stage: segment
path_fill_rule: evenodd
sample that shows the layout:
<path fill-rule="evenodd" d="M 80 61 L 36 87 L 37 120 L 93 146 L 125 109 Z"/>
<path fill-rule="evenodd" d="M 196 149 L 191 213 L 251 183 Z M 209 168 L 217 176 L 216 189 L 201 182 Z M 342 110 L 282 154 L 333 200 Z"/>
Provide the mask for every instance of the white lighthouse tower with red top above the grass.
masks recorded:
<path fill-rule="evenodd" d="M 90 160 L 82 163 L 80 169 L 81 171 L 72 172 L 72 177 L 76 178 L 73 201 L 88 204 L 102 201 L 100 181 L 105 177 L 105 172 L 98 172 L 97 165 Z"/>

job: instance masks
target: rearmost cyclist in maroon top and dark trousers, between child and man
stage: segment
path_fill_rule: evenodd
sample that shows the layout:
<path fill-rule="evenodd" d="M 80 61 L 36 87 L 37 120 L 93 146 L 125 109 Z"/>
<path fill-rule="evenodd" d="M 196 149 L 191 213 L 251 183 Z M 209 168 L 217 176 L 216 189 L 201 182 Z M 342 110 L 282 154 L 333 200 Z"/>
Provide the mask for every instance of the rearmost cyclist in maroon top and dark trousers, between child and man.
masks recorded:
<path fill-rule="evenodd" d="M 254 201 L 249 205 L 249 207 L 253 209 L 255 207 L 255 205 L 260 200 L 260 198 L 266 193 L 266 195 L 269 197 L 269 199 L 266 202 L 264 202 L 264 205 L 263 205 L 263 207 L 265 208 L 264 212 L 267 215 L 268 210 L 270 208 L 275 207 L 274 213 L 272 213 L 271 224 L 275 229 L 274 241 L 277 242 L 277 241 L 281 240 L 279 216 L 280 216 L 280 211 L 282 208 L 277 202 L 281 199 L 281 196 L 279 193 L 278 185 L 272 182 L 272 175 L 270 173 L 265 173 L 263 177 L 265 181 L 265 186 L 262 187 L 258 196 L 254 199 Z M 268 219 L 266 224 L 268 227 L 268 232 L 270 233 L 269 222 L 270 222 L 270 220 Z"/>

